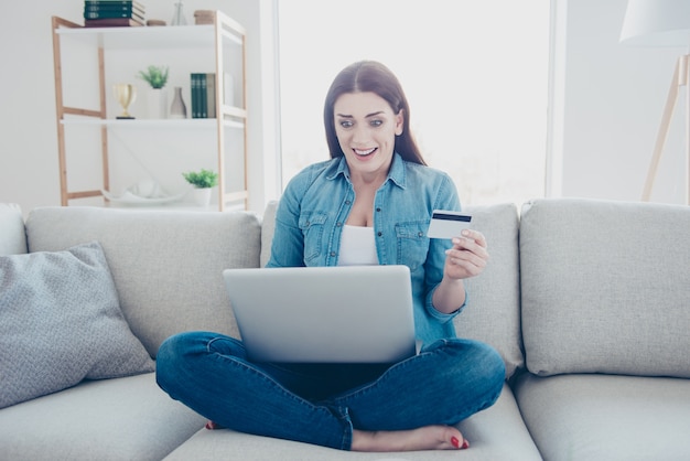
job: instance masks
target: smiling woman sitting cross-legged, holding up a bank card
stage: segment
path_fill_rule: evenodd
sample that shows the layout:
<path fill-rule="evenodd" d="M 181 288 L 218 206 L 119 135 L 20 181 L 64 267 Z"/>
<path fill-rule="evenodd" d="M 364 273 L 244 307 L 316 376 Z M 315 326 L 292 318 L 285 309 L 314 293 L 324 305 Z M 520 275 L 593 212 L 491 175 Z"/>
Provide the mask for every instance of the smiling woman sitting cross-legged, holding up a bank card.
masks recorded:
<path fill-rule="evenodd" d="M 424 164 L 387 67 L 343 69 L 324 125 L 332 159 L 288 184 L 268 266 L 407 265 L 421 352 L 380 366 L 255 364 L 240 341 L 192 332 L 161 345 L 159 384 L 209 428 L 353 451 L 465 449 L 454 425 L 493 405 L 505 378 L 496 351 L 456 339 L 452 322 L 465 305 L 463 279 L 486 266 L 486 240 L 476 230 L 425 237 L 432 211 L 460 201 L 451 179 Z"/>

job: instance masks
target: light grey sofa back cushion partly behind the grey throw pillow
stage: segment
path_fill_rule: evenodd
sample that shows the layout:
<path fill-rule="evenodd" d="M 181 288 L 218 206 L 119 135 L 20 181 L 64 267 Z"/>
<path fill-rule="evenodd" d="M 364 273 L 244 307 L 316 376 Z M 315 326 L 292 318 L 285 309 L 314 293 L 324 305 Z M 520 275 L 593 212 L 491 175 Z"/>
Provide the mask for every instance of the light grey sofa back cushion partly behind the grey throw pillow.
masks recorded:
<path fill-rule="evenodd" d="M 258 267 L 260 233 L 249 212 L 44 207 L 26 218 L 30 251 L 100 243 L 122 312 L 151 356 L 182 331 L 238 336 L 222 271 Z"/>

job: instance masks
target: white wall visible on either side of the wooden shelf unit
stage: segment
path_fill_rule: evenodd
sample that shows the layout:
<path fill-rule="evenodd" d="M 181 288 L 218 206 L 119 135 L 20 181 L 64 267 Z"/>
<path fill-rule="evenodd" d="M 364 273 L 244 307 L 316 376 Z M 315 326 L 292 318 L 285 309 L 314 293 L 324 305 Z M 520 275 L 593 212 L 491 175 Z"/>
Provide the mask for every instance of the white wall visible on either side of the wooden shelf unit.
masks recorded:
<path fill-rule="evenodd" d="M 172 19 L 173 0 L 142 0 L 148 19 Z M 273 0 L 185 0 L 187 23 L 197 9 L 222 10 L 247 29 L 249 182 L 251 210 L 278 196 Z M 83 2 L 10 2 L 0 15 L 0 202 L 24 213 L 60 204 L 51 17 L 82 23 Z"/>

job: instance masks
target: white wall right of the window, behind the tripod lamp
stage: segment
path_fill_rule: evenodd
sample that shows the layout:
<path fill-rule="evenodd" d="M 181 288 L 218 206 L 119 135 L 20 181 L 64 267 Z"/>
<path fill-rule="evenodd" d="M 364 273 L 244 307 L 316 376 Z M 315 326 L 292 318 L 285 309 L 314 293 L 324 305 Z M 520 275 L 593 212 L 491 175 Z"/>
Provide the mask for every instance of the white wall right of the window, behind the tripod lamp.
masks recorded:
<path fill-rule="evenodd" d="M 556 178 L 554 195 L 642 197 L 676 58 L 684 50 L 619 44 L 626 4 L 626 0 L 556 1 L 567 19 L 561 43 L 564 68 L 557 69 L 554 88 L 562 99 L 559 106 L 556 98 L 554 114 L 563 115 L 554 127 L 553 150 L 562 154 L 563 167 L 562 190 L 558 191 Z M 653 202 L 686 203 L 682 109 L 680 100 Z"/>

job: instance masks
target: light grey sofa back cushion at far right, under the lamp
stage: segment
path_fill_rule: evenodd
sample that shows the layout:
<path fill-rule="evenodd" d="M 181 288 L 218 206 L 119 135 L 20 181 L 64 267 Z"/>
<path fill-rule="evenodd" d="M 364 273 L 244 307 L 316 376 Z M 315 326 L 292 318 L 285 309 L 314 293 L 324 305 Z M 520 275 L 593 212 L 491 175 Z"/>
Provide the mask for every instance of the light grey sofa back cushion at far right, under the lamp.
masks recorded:
<path fill-rule="evenodd" d="M 539 200 L 522 210 L 522 339 L 537 375 L 690 377 L 690 207 Z"/>

